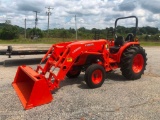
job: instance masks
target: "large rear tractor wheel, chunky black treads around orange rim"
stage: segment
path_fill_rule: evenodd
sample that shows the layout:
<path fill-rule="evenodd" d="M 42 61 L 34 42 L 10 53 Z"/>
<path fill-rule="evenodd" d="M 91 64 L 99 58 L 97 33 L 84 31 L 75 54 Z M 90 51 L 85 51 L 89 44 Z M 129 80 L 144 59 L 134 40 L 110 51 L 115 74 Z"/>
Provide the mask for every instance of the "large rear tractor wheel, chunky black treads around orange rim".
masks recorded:
<path fill-rule="evenodd" d="M 146 56 L 147 54 L 141 46 L 127 48 L 121 57 L 122 75 L 129 80 L 141 78 L 147 65 Z"/>

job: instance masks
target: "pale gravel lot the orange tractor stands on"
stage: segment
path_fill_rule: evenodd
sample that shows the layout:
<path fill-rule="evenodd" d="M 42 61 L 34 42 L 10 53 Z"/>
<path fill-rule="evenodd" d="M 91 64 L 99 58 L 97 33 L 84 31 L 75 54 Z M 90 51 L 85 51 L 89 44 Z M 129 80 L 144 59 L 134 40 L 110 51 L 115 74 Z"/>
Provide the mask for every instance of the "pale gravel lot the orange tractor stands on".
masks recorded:
<path fill-rule="evenodd" d="M 77 79 L 66 78 L 53 93 L 51 103 L 27 111 L 23 110 L 11 82 L 17 63 L 23 61 L 36 68 L 31 65 L 33 58 L 42 55 L 25 56 L 25 60 L 0 56 L 0 120 L 159 120 L 160 47 L 144 48 L 148 65 L 141 79 L 126 81 L 116 70 L 106 74 L 102 87 L 89 89 L 82 73 Z M 5 60 L 9 60 L 7 67 L 3 66 Z"/>

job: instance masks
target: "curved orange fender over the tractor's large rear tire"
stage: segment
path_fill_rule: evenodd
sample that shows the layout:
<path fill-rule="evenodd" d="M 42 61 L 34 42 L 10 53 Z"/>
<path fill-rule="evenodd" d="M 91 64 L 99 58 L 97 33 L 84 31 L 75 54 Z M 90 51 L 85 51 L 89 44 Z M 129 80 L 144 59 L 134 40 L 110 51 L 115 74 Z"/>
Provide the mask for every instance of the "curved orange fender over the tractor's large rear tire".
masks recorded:
<path fill-rule="evenodd" d="M 139 42 L 127 42 L 125 43 L 118 51 L 117 53 L 117 62 L 120 63 L 121 61 L 121 56 L 123 54 L 123 52 L 130 46 L 137 46 L 137 45 L 140 45 Z"/>

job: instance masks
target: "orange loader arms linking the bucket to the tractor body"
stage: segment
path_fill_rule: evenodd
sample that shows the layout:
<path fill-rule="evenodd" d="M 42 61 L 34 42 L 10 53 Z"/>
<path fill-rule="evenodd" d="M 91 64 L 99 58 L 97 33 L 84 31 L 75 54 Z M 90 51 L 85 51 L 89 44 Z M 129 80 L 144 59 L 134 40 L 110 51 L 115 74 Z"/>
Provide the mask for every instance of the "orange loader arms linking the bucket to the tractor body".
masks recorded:
<path fill-rule="evenodd" d="M 55 45 L 53 46 L 54 48 L 52 48 L 54 49 L 54 51 L 52 52 L 50 58 L 46 62 L 44 68 L 38 66 L 36 72 L 43 73 L 44 76 L 48 72 L 49 77 L 46 78 L 46 80 L 49 83 L 50 90 L 59 88 L 60 81 L 64 80 L 66 74 L 74 65 L 78 56 L 87 53 L 94 55 L 100 55 L 100 54 L 102 55 L 103 52 L 99 51 L 103 51 L 103 46 L 106 43 L 104 41 L 101 42 L 101 44 L 100 42 L 98 43 L 100 47 L 97 47 L 97 49 L 95 49 L 95 46 L 86 47 L 86 44 L 79 44 L 79 43 L 71 43 L 67 46 Z M 94 44 L 96 45 L 96 43 Z"/>

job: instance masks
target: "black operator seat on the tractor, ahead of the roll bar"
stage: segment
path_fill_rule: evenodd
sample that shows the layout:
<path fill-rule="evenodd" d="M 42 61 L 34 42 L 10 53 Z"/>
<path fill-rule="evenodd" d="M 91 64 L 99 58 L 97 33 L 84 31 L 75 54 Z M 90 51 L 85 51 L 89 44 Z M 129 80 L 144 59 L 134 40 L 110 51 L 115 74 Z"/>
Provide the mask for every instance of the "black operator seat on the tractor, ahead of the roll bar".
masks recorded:
<path fill-rule="evenodd" d="M 114 41 L 114 46 L 109 48 L 110 53 L 117 53 L 123 44 L 124 38 L 122 36 L 118 36 Z"/>

